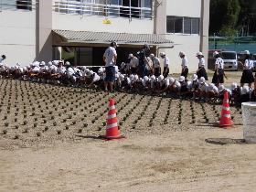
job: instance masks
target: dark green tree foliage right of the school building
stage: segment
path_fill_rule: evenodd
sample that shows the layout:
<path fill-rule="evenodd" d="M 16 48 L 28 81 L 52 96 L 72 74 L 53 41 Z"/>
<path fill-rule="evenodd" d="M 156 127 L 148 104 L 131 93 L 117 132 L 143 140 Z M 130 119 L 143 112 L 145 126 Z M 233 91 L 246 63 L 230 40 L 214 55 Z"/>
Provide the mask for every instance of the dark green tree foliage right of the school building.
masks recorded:
<path fill-rule="evenodd" d="M 255 0 L 211 0 L 209 33 L 221 36 L 256 32 Z"/>

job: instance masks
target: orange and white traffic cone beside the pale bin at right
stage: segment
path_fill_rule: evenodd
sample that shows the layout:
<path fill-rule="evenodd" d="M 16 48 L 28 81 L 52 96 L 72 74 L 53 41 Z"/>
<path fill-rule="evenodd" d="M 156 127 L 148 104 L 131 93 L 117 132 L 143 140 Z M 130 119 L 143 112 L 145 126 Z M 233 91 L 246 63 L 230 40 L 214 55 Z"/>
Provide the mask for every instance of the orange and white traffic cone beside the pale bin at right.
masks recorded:
<path fill-rule="evenodd" d="M 224 91 L 224 99 L 221 110 L 221 117 L 219 120 L 220 127 L 230 127 L 233 123 L 231 121 L 231 114 L 229 108 L 229 93 L 228 91 Z"/>

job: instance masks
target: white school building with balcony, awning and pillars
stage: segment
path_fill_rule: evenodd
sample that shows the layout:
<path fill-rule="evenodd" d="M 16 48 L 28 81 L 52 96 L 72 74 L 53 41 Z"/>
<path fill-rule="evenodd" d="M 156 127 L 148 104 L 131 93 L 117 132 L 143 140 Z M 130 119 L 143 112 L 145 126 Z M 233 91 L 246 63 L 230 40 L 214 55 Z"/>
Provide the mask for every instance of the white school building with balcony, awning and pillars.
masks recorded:
<path fill-rule="evenodd" d="M 0 55 L 9 65 L 101 66 L 115 40 L 119 63 L 148 43 L 155 55 L 166 53 L 171 73 L 181 70 L 179 51 L 196 71 L 196 53 L 208 57 L 208 14 L 209 0 L 1 0 Z"/>

